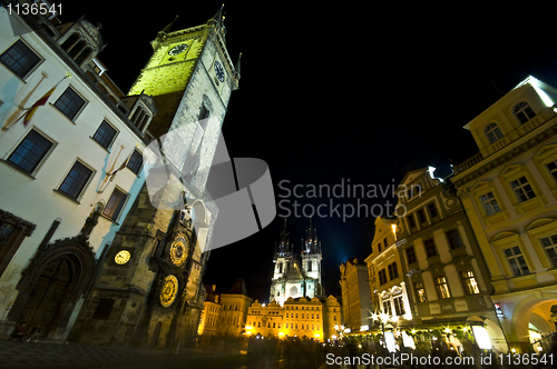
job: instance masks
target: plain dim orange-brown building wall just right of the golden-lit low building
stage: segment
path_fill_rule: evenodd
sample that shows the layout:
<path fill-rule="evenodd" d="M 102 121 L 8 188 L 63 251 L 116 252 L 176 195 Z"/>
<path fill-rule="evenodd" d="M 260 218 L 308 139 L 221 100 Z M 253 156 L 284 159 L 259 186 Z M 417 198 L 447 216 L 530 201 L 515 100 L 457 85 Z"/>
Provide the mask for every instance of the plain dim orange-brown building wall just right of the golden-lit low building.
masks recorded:
<path fill-rule="evenodd" d="M 352 331 L 368 326 L 373 311 L 368 268 L 356 258 L 349 259 L 340 266 L 343 323 Z"/>

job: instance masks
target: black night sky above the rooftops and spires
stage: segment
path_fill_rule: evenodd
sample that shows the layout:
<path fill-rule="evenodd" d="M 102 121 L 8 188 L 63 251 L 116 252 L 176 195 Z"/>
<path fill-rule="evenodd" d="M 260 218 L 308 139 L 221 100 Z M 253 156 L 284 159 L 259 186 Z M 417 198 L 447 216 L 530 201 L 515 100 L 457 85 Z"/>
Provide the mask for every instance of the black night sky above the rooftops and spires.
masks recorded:
<path fill-rule="evenodd" d="M 176 14 L 174 30 L 185 29 L 205 23 L 222 4 L 59 2 L 62 21 L 86 14 L 104 26 L 108 46 L 99 58 L 124 92 L 149 59 L 149 41 Z M 226 144 L 231 157 L 267 162 L 282 206 L 261 232 L 212 251 L 205 283 L 224 290 L 241 277 L 260 301 L 268 299 L 274 246 L 289 210 L 291 241 L 300 252 L 309 218 L 301 208 L 294 217 L 294 200 L 305 215 L 323 205 L 325 217 L 315 215 L 313 225 L 323 248 L 323 283 L 335 296 L 339 266 L 365 256 L 373 239 L 371 211 L 342 219 L 342 207 L 378 205 L 374 215 L 384 216 L 385 201 L 394 202 L 392 192 L 309 199 L 286 197 L 285 189 L 301 184 L 299 192 L 305 193 L 311 184 L 344 183 L 346 191 L 350 182 L 385 190 L 407 171 L 428 166 L 446 176 L 449 159 L 458 163 L 477 152 L 462 127 L 502 93 L 528 74 L 557 87 L 555 30 L 539 18 L 524 18 L 516 7 L 480 14 L 481 9 L 443 10 L 423 2 L 413 8 L 300 3 L 224 7 L 228 53 L 236 61 L 242 52 L 240 90 L 223 127 Z M 534 8 L 528 12 L 545 11 Z M 331 201 L 340 217 L 331 212 Z"/>

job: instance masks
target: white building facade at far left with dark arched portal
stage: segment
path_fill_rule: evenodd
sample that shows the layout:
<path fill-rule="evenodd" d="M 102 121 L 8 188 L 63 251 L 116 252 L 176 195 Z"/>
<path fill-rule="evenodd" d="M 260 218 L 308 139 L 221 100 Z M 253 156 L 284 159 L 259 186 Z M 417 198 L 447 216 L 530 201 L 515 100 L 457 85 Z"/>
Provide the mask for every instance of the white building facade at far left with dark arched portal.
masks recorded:
<path fill-rule="evenodd" d="M 62 340 L 145 182 L 157 108 L 114 84 L 86 19 L 0 19 L 0 330 L 26 320 Z"/>

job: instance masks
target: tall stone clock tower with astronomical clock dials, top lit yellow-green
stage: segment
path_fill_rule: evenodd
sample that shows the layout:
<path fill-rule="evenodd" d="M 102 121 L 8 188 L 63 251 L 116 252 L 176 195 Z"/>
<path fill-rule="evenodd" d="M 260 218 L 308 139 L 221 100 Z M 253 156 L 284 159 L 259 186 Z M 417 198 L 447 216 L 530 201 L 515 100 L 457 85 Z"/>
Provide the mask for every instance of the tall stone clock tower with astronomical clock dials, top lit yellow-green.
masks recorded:
<path fill-rule="evenodd" d="M 152 42 L 153 56 L 129 96 L 150 96 L 157 107 L 147 133 L 158 139 L 152 144 L 166 177 L 153 193 L 149 169 L 146 186 L 98 260 L 95 287 L 71 341 L 170 347 L 195 340 L 205 300 L 205 247 L 218 211 L 205 186 L 240 80 L 240 60 L 231 61 L 223 19 L 221 9 L 198 27 L 172 31 L 172 22 Z"/>

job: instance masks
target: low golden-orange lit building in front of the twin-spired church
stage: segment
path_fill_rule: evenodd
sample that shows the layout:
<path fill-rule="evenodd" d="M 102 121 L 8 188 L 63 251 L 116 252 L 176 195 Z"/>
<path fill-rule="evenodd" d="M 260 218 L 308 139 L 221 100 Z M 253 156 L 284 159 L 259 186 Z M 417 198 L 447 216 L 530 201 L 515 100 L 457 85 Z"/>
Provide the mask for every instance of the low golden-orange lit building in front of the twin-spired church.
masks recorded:
<path fill-rule="evenodd" d="M 324 301 L 316 297 L 290 297 L 284 301 L 284 307 L 275 301 L 265 306 L 256 300 L 247 311 L 246 335 L 305 337 L 323 342 L 335 335 L 335 321 L 341 321 L 341 306 L 333 296 Z"/>

